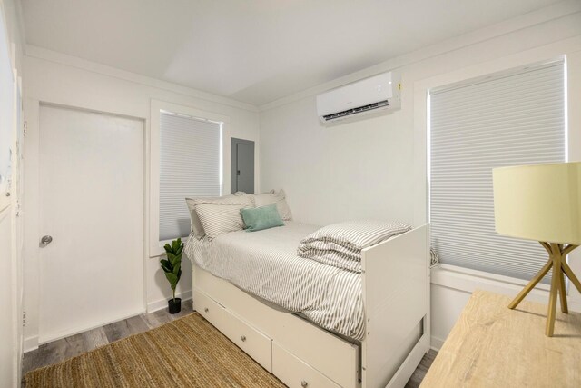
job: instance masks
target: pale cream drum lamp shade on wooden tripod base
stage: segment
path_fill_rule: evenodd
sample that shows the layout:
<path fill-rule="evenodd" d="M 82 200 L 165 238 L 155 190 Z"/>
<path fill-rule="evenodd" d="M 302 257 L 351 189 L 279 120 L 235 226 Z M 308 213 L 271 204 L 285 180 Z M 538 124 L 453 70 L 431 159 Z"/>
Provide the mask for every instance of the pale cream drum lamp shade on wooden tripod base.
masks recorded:
<path fill-rule="evenodd" d="M 497 233 L 581 244 L 581 162 L 495 168 Z"/>

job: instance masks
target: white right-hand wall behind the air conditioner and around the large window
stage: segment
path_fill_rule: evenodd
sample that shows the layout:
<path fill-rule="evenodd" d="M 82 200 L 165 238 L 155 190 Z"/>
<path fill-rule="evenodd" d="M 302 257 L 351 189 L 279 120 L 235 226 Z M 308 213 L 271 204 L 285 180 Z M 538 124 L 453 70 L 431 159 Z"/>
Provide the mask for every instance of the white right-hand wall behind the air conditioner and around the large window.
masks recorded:
<path fill-rule="evenodd" d="M 293 215 L 309 223 L 373 217 L 423 224 L 427 221 L 428 88 L 559 55 L 567 55 L 568 61 L 570 155 L 581 160 L 580 11 L 578 2 L 558 4 L 262 106 L 261 190 L 283 187 Z M 319 124 L 316 94 L 393 69 L 402 74 L 400 111 L 333 127 Z M 514 294 L 524 284 L 456 271 L 442 268 L 432 273 L 432 343 L 436 346 L 448 335 L 475 287 Z M 546 292 L 532 297 L 547 301 Z M 572 298 L 578 308 L 581 298 L 576 292 Z"/>

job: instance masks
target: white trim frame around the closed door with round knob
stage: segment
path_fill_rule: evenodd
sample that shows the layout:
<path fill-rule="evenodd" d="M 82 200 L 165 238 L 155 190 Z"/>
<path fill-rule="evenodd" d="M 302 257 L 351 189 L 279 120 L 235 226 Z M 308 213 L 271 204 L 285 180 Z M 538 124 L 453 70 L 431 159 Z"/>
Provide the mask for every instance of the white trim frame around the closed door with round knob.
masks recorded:
<path fill-rule="evenodd" d="M 40 328 L 40 250 L 39 239 L 41 236 L 41 197 L 40 197 L 40 108 L 41 106 L 53 106 L 64 109 L 76 110 L 81 112 L 89 112 L 96 114 L 107 114 L 117 117 L 138 120 L 143 123 L 143 257 L 141 263 L 143 265 L 143 279 L 142 279 L 142 304 L 138 313 L 145 313 L 147 310 L 147 271 L 145 259 L 147 257 L 148 234 L 147 224 L 149 219 L 149 158 L 150 158 L 150 126 L 149 120 L 145 117 L 138 117 L 122 112 L 106 112 L 102 110 L 93 109 L 91 107 L 74 105 L 74 104 L 60 104 L 51 101 L 45 101 L 34 98 L 26 98 L 25 101 L 25 146 L 24 146 L 24 168 L 25 168 L 25 192 L 24 192 L 24 218 L 25 218 L 25 232 L 24 232 L 24 252 L 25 257 L 25 274 L 26 278 L 26 311 L 23 313 L 23 323 L 25 326 L 25 352 L 34 350 L 39 344 L 39 328 Z M 107 242 L 103 242 L 107 244 Z M 34 268 L 34 271 L 31 271 Z M 27 271 L 28 270 L 28 271 Z M 132 312 L 127 316 L 119 317 L 119 319 L 126 319 L 134 316 Z M 113 322 L 116 322 L 117 319 Z M 109 322 L 109 323 L 113 323 Z M 74 335 L 75 333 L 82 333 L 86 330 L 91 330 L 96 327 L 101 327 L 103 324 L 99 323 L 94 327 L 83 328 L 78 332 L 68 333 L 64 336 Z M 58 338 L 54 338 L 54 341 Z"/>

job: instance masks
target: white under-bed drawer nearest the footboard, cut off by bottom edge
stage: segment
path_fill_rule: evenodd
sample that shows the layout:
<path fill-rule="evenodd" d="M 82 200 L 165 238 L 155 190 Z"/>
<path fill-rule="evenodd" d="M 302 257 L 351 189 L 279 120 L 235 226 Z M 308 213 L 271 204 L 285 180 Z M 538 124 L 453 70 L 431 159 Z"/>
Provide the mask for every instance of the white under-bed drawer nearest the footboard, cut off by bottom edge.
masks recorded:
<path fill-rule="evenodd" d="M 272 343 L 272 373 L 290 388 L 340 387 L 274 342 Z"/>

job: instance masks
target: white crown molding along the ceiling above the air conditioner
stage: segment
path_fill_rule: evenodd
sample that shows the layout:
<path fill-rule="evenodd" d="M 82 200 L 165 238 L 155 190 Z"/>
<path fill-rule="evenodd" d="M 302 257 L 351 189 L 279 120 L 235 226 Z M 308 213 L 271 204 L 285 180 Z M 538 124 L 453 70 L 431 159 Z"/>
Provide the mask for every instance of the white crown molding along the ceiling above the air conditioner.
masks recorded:
<path fill-rule="evenodd" d="M 310 97 L 312 95 L 319 95 L 320 93 L 323 93 L 327 90 L 334 89 L 341 85 L 350 84 L 352 82 L 358 81 L 359 79 L 367 78 L 371 75 L 377 75 L 382 72 L 396 70 L 403 66 L 413 65 L 438 55 L 445 55 L 447 53 L 457 51 L 469 45 L 476 45 L 478 43 L 482 43 L 502 35 L 507 35 L 527 27 L 547 23 L 579 12 L 581 12 L 581 2 L 579 1 L 567 0 L 556 3 L 556 5 L 540 8 L 536 11 L 532 11 L 524 15 L 519 15 L 495 25 L 488 25 L 470 33 L 449 38 L 435 45 L 428 45 L 426 47 L 419 48 L 418 50 L 409 54 L 391 58 L 378 65 L 372 65 L 365 69 L 351 73 L 350 75 L 344 75 L 330 82 L 313 86 L 309 89 L 288 95 L 286 97 L 282 97 L 270 103 L 261 104 L 259 106 L 259 111 L 264 112 L 281 105 L 291 104 L 292 102 L 298 101 L 300 99 Z"/>

